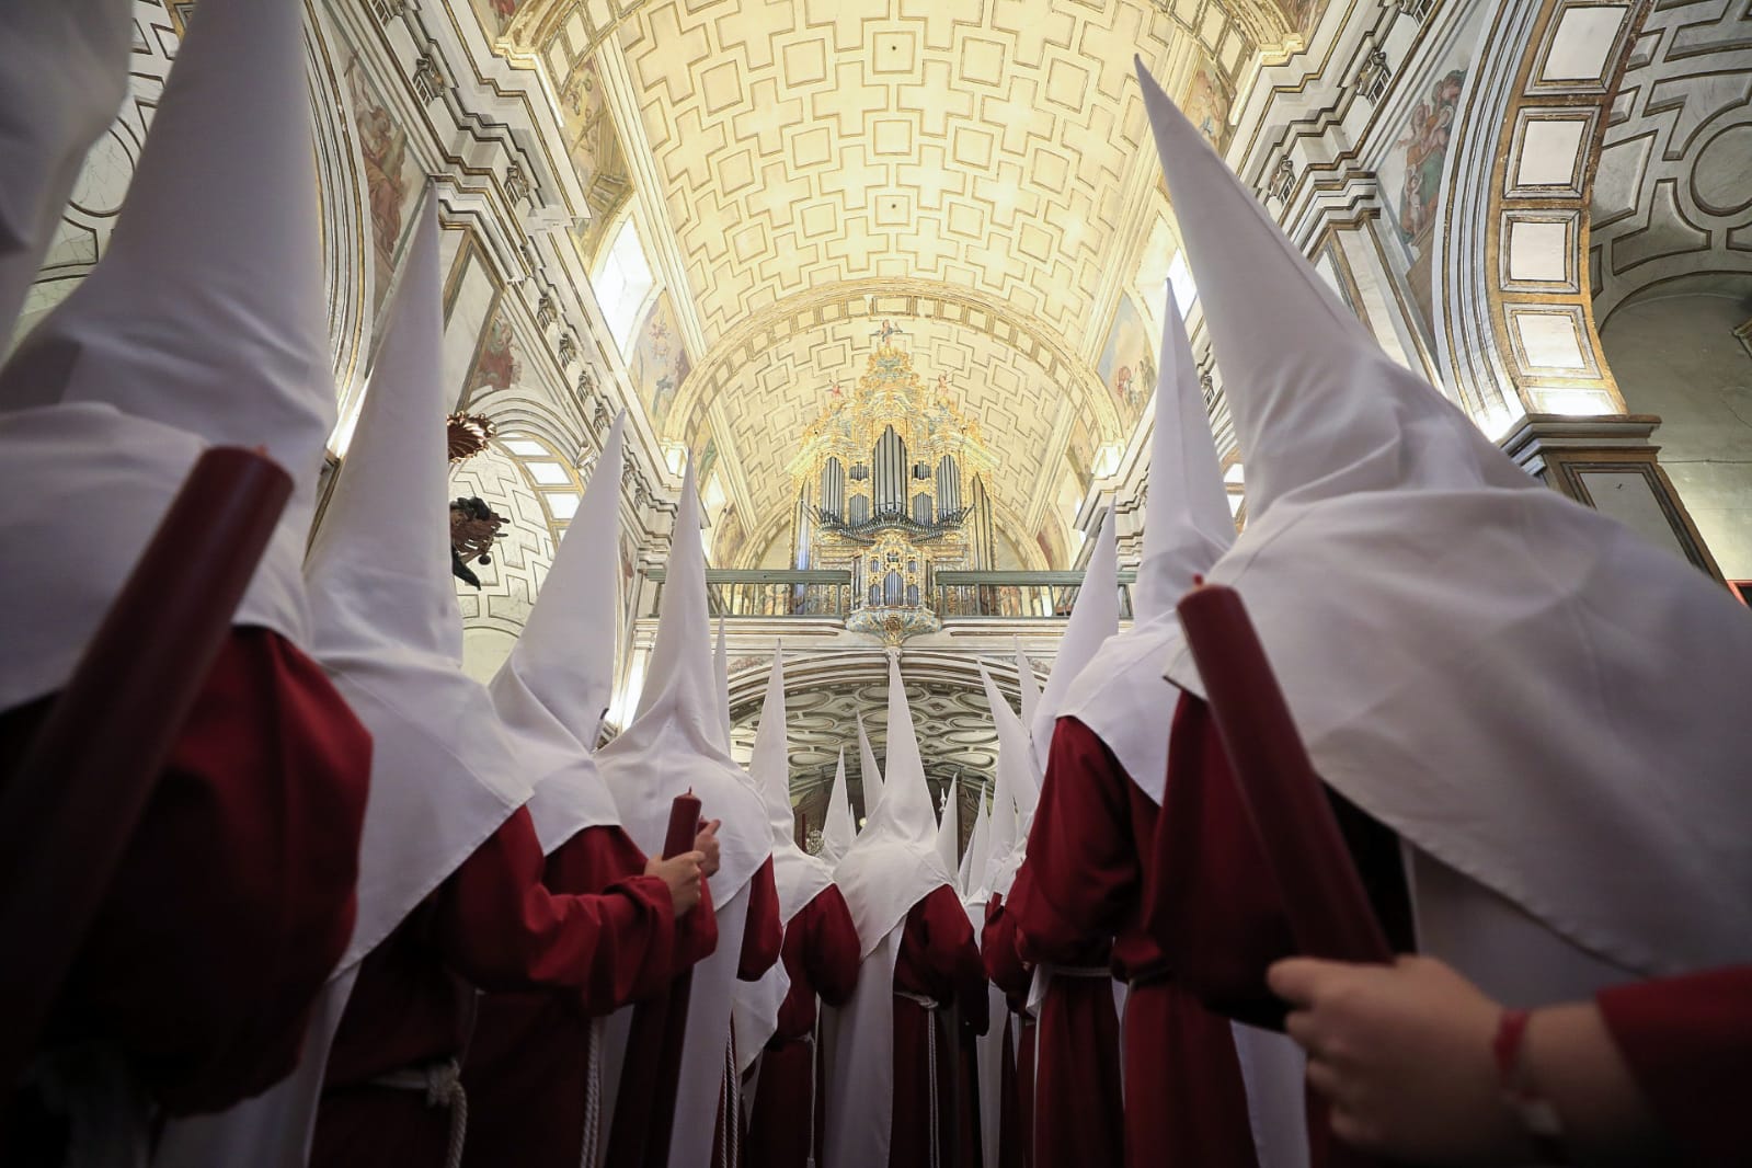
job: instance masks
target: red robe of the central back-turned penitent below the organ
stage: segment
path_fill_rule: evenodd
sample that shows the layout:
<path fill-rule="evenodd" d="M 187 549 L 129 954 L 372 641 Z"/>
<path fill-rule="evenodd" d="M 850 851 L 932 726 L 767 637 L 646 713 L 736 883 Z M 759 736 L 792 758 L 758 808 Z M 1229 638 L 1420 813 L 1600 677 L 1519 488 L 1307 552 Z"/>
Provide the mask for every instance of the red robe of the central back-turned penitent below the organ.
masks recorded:
<path fill-rule="evenodd" d="M 937 1163 L 955 1163 L 955 1054 L 958 1037 L 946 1028 L 946 1010 L 958 1005 L 962 1024 L 986 1031 L 986 981 L 974 947 L 967 909 L 948 884 L 906 914 L 901 953 L 894 963 L 894 1114 L 890 1119 L 888 1164 L 929 1164 L 932 1107 L 937 1115 Z M 913 996 L 943 1005 L 927 1010 Z M 932 1030 L 936 1037 L 932 1038 Z M 936 1044 L 936 1066 L 930 1045 Z M 936 1100 L 930 1089 L 936 1080 Z"/>

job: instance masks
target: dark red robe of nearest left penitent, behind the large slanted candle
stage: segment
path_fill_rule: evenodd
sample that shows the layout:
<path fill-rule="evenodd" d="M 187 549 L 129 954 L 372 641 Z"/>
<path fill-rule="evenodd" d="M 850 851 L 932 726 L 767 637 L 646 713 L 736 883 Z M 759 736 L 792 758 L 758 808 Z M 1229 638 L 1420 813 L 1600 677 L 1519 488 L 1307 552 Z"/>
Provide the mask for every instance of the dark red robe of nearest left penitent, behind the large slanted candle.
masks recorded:
<path fill-rule="evenodd" d="M 0 776 L 53 700 L 0 714 Z M 275 632 L 233 629 L 42 1047 L 112 1044 L 172 1114 L 226 1108 L 291 1073 L 352 935 L 370 767 L 371 737 L 322 669 Z"/>

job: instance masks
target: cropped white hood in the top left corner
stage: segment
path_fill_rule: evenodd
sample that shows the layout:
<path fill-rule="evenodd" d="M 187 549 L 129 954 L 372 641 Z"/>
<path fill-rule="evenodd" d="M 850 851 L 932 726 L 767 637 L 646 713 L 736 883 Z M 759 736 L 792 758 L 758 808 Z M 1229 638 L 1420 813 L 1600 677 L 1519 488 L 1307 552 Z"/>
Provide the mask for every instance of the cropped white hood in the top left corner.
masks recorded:
<path fill-rule="evenodd" d="M 0 39 L 0 352 L 86 151 L 128 93 L 131 0 L 30 0 Z"/>

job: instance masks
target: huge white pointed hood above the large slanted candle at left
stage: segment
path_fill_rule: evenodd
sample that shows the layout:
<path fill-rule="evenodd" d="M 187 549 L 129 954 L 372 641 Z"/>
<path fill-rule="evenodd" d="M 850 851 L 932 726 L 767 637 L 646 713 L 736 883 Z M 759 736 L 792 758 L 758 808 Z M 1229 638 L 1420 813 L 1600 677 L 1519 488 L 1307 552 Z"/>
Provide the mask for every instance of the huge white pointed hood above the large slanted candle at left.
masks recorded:
<path fill-rule="evenodd" d="M 303 9 L 203 0 L 109 250 L 0 369 L 0 466 L 30 501 L 5 532 L 79 534 L 75 560 L 23 557 L 0 583 L 0 709 L 65 685 L 207 445 L 263 447 L 293 476 L 237 623 L 303 643 L 335 424 L 314 159 Z"/>

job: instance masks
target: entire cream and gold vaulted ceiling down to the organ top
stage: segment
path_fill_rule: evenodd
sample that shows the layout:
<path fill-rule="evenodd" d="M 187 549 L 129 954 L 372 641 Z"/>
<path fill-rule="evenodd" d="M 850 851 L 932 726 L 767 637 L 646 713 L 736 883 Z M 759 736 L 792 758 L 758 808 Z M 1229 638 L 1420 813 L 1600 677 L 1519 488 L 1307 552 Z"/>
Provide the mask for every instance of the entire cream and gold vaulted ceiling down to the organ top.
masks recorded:
<path fill-rule="evenodd" d="M 634 215 L 687 350 L 646 413 L 673 448 L 715 441 L 752 557 L 788 513 L 802 426 L 881 319 L 923 376 L 950 375 L 999 457 L 1000 524 L 1032 545 L 1070 468 L 1086 490 L 1090 450 L 1139 420 L 1102 362 L 1160 250 L 1134 54 L 1221 142 L 1256 51 L 1309 21 L 1274 0 L 473 5 L 562 107 L 587 263 Z"/>

